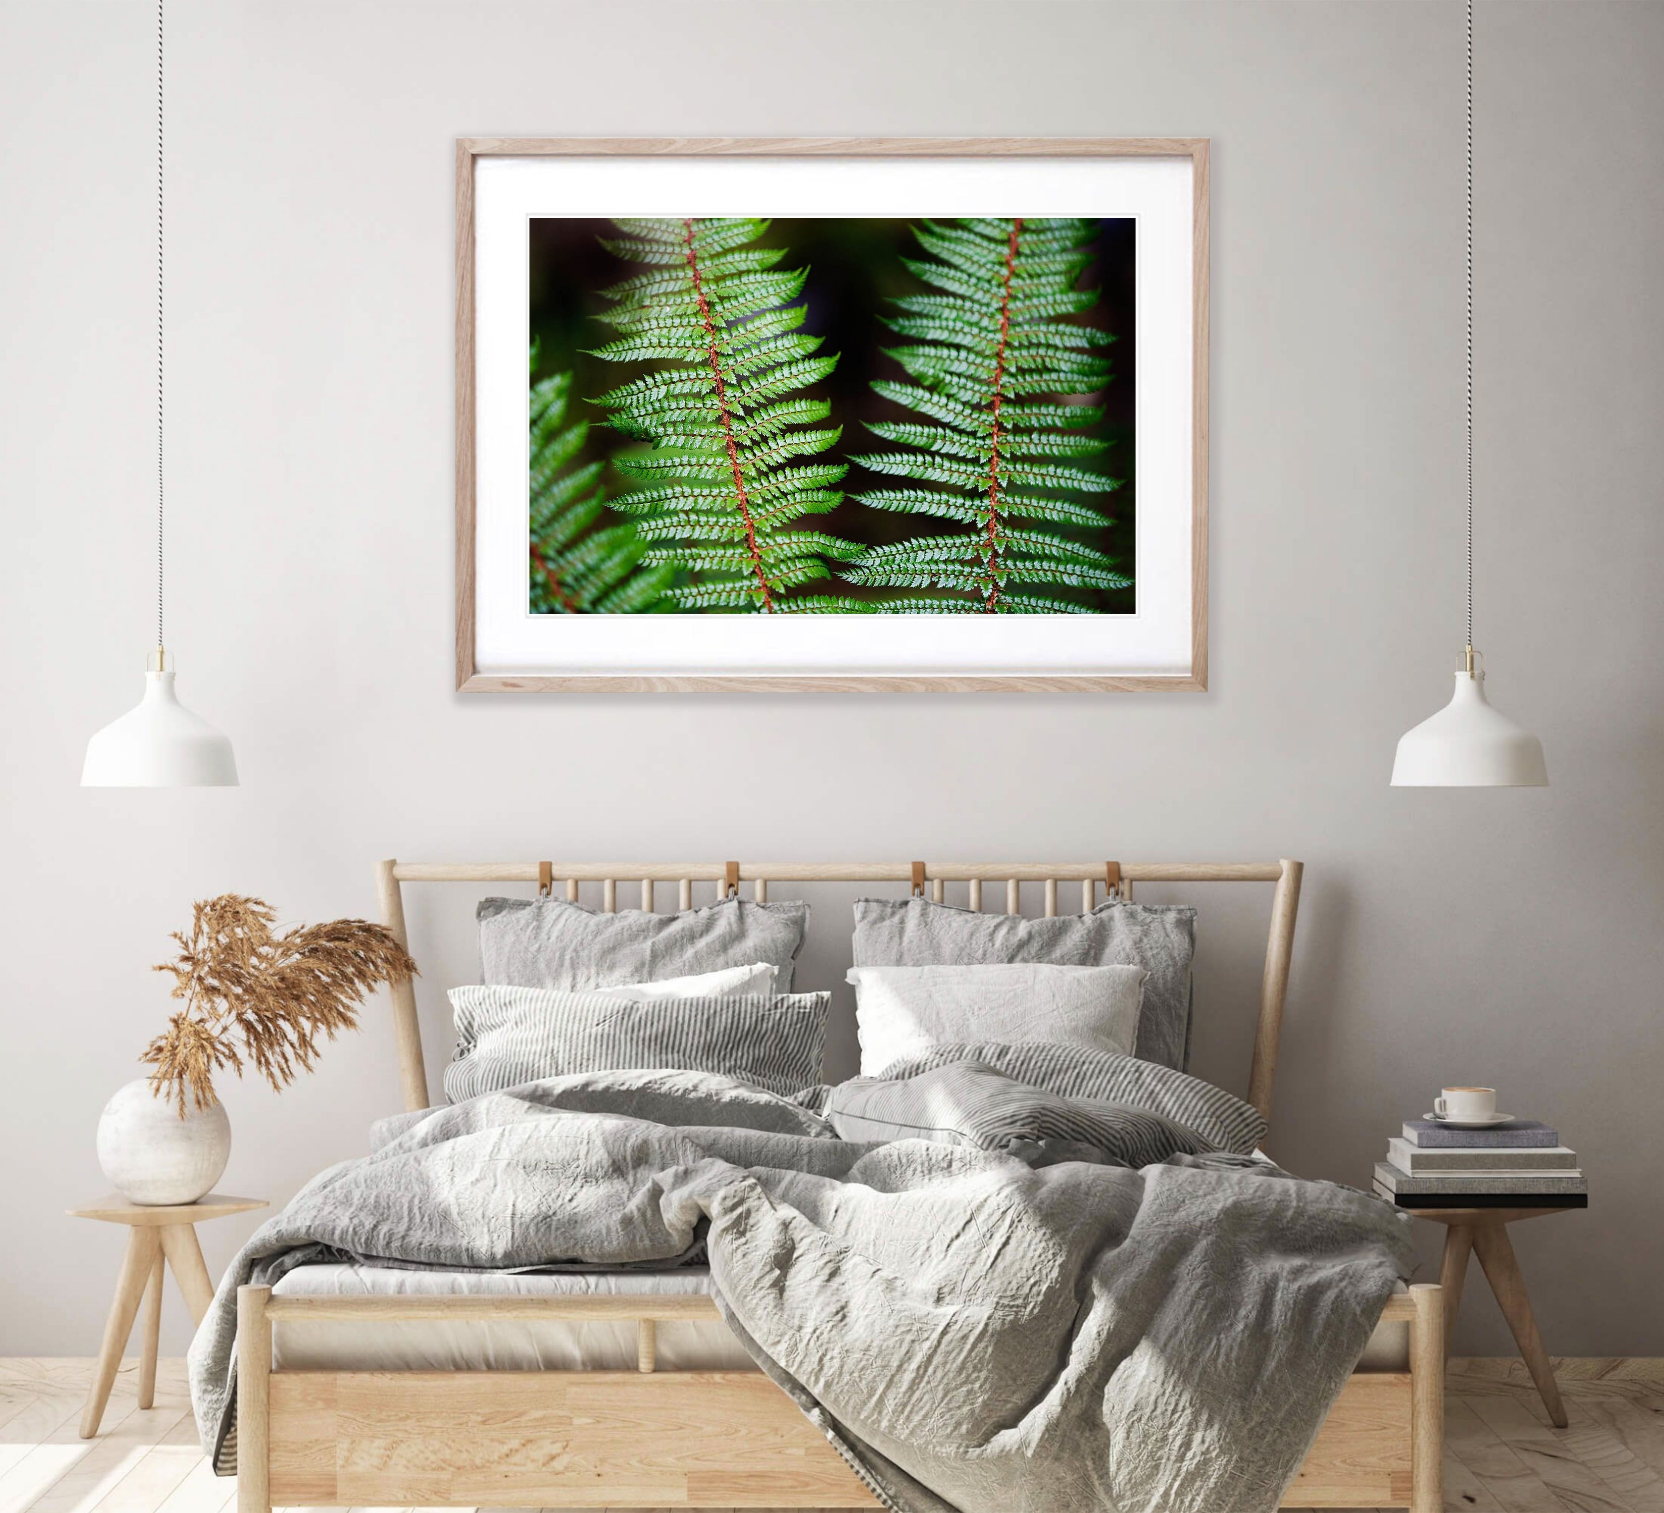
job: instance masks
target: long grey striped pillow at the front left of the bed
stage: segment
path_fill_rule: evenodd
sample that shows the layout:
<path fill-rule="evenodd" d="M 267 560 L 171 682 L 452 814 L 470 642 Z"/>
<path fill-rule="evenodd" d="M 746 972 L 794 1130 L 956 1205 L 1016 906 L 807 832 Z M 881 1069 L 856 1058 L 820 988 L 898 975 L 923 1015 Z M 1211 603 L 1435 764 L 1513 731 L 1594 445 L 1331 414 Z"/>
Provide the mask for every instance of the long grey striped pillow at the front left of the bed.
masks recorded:
<path fill-rule="evenodd" d="M 539 1077 L 674 1069 L 775 1094 L 820 1080 L 830 994 L 629 1002 L 607 992 L 453 987 L 453 1104 Z"/>

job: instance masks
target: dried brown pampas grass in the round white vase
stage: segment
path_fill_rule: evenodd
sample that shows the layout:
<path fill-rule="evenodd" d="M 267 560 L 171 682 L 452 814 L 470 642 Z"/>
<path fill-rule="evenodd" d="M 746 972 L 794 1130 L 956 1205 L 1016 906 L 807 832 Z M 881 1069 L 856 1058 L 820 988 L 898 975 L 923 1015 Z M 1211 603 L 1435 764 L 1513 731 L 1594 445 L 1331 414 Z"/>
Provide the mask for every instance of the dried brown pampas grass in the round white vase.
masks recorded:
<path fill-rule="evenodd" d="M 216 1097 L 213 1074 L 243 1075 L 245 1059 L 278 1092 L 318 1059 L 319 1035 L 358 1029 L 366 992 L 416 975 L 393 934 L 363 919 L 296 925 L 275 935 L 276 910 L 261 899 L 221 894 L 193 905 L 191 930 L 175 934 L 180 954 L 155 970 L 173 974 L 185 1009 L 145 1047 L 156 1097 L 186 1112 Z"/>

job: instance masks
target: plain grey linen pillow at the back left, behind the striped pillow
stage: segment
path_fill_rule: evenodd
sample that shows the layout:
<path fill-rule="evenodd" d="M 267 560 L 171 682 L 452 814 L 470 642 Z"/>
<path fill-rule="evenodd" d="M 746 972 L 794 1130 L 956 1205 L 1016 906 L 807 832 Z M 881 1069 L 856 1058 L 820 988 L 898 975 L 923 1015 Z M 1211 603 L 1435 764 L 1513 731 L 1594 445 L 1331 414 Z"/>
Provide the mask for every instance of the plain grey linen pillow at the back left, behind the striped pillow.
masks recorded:
<path fill-rule="evenodd" d="M 809 905 L 800 899 L 724 899 L 681 914 L 602 914 L 566 899 L 484 899 L 474 917 L 486 982 L 571 990 L 769 962 L 774 990 L 789 994 L 809 929 Z"/>

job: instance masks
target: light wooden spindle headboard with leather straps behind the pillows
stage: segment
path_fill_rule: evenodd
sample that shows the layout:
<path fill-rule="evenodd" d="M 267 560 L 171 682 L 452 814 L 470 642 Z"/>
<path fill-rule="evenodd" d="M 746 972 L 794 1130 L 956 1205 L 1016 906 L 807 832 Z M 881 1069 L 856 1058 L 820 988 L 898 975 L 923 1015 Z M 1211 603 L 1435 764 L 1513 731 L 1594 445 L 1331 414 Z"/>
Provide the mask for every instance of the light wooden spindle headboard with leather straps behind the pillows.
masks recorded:
<path fill-rule="evenodd" d="M 1005 912 L 1022 912 L 1025 882 L 1040 884 L 1045 912 L 1055 915 L 1062 884 L 1078 884 L 1080 909 L 1097 904 L 1098 885 L 1105 897 L 1132 899 L 1140 882 L 1270 882 L 1271 929 L 1265 942 L 1265 977 L 1260 984 L 1260 1022 L 1248 1074 L 1248 1102 L 1271 1119 L 1271 1084 L 1276 1077 L 1276 1042 L 1283 1029 L 1283 1000 L 1288 995 L 1288 964 L 1295 950 L 1295 914 L 1300 909 L 1300 862 L 378 862 L 376 892 L 381 922 L 406 949 L 406 882 L 534 882 L 539 892 L 556 884 L 577 900 L 579 885 L 601 884 L 601 907 L 619 905 L 619 884 L 637 884 L 639 907 L 652 909 L 657 884 L 676 884 L 679 909 L 692 909 L 694 884 L 711 882 L 717 899 L 737 894 L 749 882 L 757 902 L 767 902 L 770 882 L 890 882 L 943 902 L 948 882 L 967 884 L 972 909 L 982 909 L 983 887 L 1005 884 Z M 399 1052 L 399 1082 L 406 1109 L 426 1109 L 428 1067 L 421 1054 L 421 1025 L 416 1019 L 416 985 L 393 989 L 393 1029 Z"/>

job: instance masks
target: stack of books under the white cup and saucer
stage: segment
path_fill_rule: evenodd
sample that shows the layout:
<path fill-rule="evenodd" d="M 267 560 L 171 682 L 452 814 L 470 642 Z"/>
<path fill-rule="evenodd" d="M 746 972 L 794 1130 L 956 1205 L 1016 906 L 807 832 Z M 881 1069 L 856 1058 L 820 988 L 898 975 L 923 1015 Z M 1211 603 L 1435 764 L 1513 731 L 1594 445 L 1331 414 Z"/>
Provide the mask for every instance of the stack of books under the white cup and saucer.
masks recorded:
<path fill-rule="evenodd" d="M 1376 1162 L 1378 1197 L 1401 1208 L 1587 1208 L 1577 1152 L 1534 1119 L 1464 1130 L 1411 1119 Z"/>

